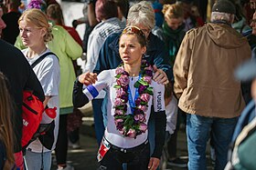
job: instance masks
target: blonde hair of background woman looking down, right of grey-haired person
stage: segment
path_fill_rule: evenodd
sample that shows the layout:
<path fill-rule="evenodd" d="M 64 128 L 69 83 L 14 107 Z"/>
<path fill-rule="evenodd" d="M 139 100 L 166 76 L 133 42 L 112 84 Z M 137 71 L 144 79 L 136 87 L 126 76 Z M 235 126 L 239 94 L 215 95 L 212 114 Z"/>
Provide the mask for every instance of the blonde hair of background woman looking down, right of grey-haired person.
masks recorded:
<path fill-rule="evenodd" d="M 184 17 L 183 8 L 180 4 L 164 5 L 162 12 L 165 19 Z"/>

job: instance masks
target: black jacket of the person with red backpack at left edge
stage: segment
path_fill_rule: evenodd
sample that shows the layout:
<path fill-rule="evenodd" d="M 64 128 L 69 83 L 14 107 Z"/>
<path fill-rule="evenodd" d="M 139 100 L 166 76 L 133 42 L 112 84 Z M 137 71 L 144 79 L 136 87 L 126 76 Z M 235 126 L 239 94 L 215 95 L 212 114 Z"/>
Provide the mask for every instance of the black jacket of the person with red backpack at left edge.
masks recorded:
<path fill-rule="evenodd" d="M 44 91 L 25 56 L 13 45 L 0 39 L 0 71 L 7 77 L 9 92 L 15 103 L 15 152 L 21 151 L 23 90 L 33 90 L 34 95 L 45 100 Z"/>

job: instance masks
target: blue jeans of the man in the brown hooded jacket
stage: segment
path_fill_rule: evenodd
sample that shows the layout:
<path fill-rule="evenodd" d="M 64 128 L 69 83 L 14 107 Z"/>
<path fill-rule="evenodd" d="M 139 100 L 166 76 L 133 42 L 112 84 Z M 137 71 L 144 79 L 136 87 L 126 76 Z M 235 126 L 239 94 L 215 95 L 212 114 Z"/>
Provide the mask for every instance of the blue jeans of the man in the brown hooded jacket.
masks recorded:
<path fill-rule="evenodd" d="M 188 169 L 206 170 L 206 147 L 209 132 L 216 152 L 215 169 L 222 170 L 227 164 L 229 143 L 238 117 L 215 118 L 200 115 L 187 115 Z"/>

